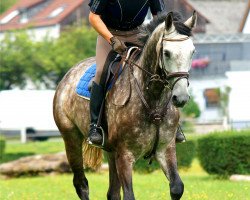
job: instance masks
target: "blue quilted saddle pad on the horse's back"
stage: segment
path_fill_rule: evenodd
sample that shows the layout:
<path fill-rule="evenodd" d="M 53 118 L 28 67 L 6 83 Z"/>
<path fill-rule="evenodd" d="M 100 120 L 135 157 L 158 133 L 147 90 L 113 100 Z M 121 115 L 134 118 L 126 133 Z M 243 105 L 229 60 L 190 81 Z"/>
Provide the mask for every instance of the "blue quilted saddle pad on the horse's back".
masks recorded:
<path fill-rule="evenodd" d="M 83 74 L 83 76 L 80 78 L 77 86 L 76 86 L 76 93 L 79 96 L 85 97 L 87 99 L 90 98 L 91 94 L 90 91 L 88 89 L 89 83 L 92 80 L 92 78 L 95 76 L 95 72 L 96 72 L 96 64 L 93 64 L 92 66 L 90 66 L 87 71 Z M 122 66 L 120 66 L 119 69 L 119 75 L 122 72 Z M 108 82 L 108 86 L 107 86 L 107 90 L 110 90 L 113 86 L 113 78 L 111 78 L 111 80 Z"/>

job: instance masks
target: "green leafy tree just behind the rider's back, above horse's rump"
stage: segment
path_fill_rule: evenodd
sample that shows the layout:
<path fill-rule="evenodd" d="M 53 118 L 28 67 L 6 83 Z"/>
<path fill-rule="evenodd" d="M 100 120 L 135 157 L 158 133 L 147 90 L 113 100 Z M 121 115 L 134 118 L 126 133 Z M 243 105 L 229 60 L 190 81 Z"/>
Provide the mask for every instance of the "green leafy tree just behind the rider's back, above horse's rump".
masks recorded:
<path fill-rule="evenodd" d="M 53 50 L 54 68 L 51 79 L 58 83 L 70 67 L 95 55 L 97 33 L 88 27 L 69 27 L 56 41 Z"/>

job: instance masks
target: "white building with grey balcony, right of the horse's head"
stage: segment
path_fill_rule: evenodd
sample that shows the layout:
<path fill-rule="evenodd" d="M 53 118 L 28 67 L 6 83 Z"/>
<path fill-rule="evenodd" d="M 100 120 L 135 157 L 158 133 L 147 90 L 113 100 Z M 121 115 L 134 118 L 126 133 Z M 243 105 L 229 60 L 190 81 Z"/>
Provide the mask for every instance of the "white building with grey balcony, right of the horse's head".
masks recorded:
<path fill-rule="evenodd" d="M 209 59 L 191 70 L 191 92 L 201 109 L 197 122 L 222 124 L 227 117 L 232 128 L 250 128 L 250 35 L 195 35 L 194 42 L 194 60 Z M 227 87 L 231 91 L 225 114 L 221 101 Z"/>

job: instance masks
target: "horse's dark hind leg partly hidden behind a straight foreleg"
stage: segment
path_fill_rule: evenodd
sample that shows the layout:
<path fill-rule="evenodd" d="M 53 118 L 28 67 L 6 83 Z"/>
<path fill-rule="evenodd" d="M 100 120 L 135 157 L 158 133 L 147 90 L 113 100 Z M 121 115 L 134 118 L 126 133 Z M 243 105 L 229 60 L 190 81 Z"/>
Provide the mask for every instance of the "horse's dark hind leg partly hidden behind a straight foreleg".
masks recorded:
<path fill-rule="evenodd" d="M 108 153 L 108 163 L 109 163 L 109 190 L 107 194 L 107 199 L 120 200 L 121 184 L 117 174 L 114 153 Z"/>

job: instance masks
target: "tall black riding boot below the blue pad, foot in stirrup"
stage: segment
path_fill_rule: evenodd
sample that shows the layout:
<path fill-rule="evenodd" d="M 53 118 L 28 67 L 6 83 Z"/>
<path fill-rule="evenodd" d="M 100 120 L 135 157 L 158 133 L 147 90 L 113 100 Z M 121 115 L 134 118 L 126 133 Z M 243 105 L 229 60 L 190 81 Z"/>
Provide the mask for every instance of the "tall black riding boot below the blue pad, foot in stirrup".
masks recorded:
<path fill-rule="evenodd" d="M 97 121 L 100 114 L 104 98 L 104 88 L 101 85 L 92 83 L 91 97 L 90 97 L 90 130 L 88 142 L 89 144 L 102 146 L 103 144 L 103 131 L 101 127 L 97 126 Z"/>

